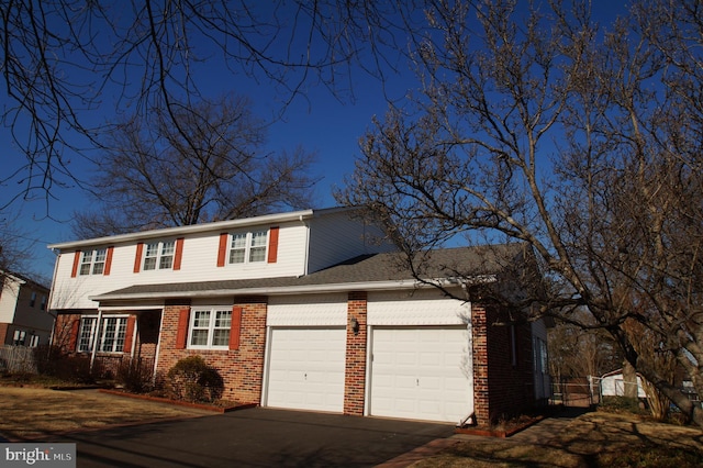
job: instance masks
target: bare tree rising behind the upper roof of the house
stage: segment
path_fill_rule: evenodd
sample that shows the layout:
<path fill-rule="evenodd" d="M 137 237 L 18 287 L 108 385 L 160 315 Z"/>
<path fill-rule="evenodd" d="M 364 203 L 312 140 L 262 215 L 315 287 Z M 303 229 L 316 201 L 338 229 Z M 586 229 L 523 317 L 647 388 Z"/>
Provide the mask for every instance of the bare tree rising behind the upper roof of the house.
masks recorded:
<path fill-rule="evenodd" d="M 197 224 L 310 204 L 313 154 L 264 153 L 266 127 L 242 97 L 120 122 L 102 143 L 98 208 L 76 216 L 96 237 Z"/>

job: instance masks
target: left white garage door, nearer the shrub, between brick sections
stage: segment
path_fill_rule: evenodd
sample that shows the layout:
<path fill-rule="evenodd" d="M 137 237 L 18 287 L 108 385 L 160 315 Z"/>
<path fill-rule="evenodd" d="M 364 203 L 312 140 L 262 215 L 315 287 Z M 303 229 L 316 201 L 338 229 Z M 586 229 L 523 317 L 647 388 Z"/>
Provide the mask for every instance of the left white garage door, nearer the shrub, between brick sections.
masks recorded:
<path fill-rule="evenodd" d="M 344 328 L 272 328 L 267 405 L 344 410 Z"/>

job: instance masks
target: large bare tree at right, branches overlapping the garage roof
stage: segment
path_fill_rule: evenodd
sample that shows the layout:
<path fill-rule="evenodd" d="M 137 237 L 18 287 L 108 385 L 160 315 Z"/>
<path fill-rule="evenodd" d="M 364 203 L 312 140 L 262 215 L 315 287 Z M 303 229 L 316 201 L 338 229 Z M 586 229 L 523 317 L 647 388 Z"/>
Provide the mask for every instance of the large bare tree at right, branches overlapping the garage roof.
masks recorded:
<path fill-rule="evenodd" d="M 625 327 L 647 327 L 703 394 L 702 12 L 647 3 L 605 29 L 581 1 L 427 2 L 422 92 L 375 122 L 337 198 L 386 222 L 410 261 L 462 234 L 527 243 L 544 271 L 536 293 L 468 299 L 606 330 L 703 426 Z M 667 53 L 657 31 L 678 38 Z"/>

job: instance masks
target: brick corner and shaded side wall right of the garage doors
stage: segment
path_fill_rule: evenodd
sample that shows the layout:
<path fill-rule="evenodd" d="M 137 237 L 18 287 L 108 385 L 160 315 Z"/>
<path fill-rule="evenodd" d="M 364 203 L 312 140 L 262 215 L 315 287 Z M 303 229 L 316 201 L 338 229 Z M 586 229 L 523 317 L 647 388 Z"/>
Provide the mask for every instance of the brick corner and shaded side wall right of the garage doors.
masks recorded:
<path fill-rule="evenodd" d="M 473 402 L 479 424 L 495 423 L 535 405 L 529 324 L 515 326 L 513 363 L 511 327 L 495 308 L 473 305 Z"/>

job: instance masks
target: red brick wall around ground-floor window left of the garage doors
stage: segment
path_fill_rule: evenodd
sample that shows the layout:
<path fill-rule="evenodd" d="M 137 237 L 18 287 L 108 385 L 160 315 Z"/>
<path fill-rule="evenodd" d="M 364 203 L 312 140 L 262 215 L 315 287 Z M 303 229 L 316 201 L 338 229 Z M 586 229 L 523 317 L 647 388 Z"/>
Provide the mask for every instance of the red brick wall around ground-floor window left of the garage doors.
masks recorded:
<path fill-rule="evenodd" d="M 187 356 L 201 356 L 217 369 L 224 380 L 222 398 L 245 403 L 260 403 L 266 345 L 266 298 L 235 298 L 242 308 L 239 348 L 234 350 L 177 349 L 176 334 L 180 311 L 189 304 L 168 304 L 164 308 L 161 343 L 157 371 L 166 375 Z"/>

